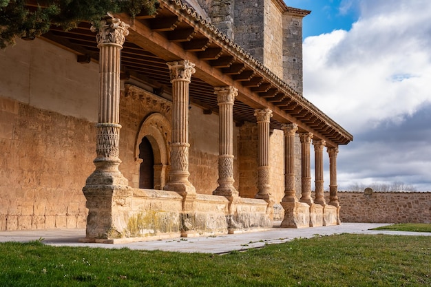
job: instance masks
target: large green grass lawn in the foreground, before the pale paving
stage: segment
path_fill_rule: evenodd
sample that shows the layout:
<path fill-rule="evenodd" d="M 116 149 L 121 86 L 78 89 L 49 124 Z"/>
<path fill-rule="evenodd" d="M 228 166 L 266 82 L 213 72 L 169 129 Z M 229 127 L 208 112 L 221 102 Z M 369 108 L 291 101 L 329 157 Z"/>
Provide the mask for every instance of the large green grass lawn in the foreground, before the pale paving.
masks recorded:
<path fill-rule="evenodd" d="M 227 255 L 7 242 L 0 286 L 431 286 L 431 240 L 341 234 Z"/>

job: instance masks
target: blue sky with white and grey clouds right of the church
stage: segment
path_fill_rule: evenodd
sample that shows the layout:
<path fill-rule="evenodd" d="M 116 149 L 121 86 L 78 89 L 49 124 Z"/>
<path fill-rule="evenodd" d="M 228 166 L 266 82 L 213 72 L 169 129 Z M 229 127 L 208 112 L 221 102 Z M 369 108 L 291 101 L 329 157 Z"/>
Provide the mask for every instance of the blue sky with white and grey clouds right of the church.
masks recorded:
<path fill-rule="evenodd" d="M 285 2 L 312 10 L 304 97 L 354 136 L 339 147 L 339 190 L 403 182 L 431 191 L 431 1 Z"/>

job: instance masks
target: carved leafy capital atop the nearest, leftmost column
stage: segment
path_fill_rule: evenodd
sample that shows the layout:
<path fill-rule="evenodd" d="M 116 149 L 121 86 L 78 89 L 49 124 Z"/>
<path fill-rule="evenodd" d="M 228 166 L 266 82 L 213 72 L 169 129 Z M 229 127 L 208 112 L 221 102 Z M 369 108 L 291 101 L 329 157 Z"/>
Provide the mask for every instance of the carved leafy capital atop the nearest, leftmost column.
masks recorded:
<path fill-rule="evenodd" d="M 120 21 L 120 19 L 106 17 L 98 25 L 92 25 L 92 32 L 97 32 L 96 41 L 98 46 L 103 44 L 113 44 L 123 47 L 126 36 L 129 34 L 129 24 Z"/>

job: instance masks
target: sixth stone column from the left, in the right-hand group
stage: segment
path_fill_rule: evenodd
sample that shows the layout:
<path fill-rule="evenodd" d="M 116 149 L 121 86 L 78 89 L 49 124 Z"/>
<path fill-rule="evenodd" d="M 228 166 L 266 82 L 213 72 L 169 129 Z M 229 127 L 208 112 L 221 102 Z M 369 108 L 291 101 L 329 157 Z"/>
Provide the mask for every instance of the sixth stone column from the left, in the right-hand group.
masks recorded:
<path fill-rule="evenodd" d="M 305 202 L 306 204 L 313 204 L 313 199 L 311 198 L 311 167 L 310 167 L 310 143 L 313 138 L 311 133 L 299 134 L 301 139 L 301 199 L 300 202 Z"/>

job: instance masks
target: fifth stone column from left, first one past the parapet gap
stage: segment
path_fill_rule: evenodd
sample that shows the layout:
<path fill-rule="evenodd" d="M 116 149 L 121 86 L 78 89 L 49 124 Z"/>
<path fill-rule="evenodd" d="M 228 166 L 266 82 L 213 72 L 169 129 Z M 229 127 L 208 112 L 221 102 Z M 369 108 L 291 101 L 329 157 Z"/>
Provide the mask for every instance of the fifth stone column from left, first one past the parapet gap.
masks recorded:
<path fill-rule="evenodd" d="M 295 134 L 296 124 L 282 124 L 284 131 L 284 198 L 282 202 L 297 202 L 295 189 Z"/>

